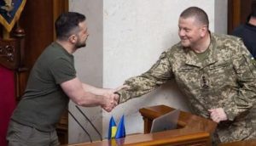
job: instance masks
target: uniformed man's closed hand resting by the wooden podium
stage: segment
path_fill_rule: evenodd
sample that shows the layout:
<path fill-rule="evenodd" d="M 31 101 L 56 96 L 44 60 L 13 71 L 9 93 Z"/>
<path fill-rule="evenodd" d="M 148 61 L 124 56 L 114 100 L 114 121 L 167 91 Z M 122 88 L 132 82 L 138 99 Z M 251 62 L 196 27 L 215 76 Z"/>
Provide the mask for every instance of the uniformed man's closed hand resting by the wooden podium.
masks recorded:
<path fill-rule="evenodd" d="M 208 110 L 211 115 L 212 121 L 219 122 L 219 121 L 226 121 L 228 120 L 228 117 L 226 113 L 224 112 L 224 109 L 218 108 L 218 109 L 212 109 Z"/>

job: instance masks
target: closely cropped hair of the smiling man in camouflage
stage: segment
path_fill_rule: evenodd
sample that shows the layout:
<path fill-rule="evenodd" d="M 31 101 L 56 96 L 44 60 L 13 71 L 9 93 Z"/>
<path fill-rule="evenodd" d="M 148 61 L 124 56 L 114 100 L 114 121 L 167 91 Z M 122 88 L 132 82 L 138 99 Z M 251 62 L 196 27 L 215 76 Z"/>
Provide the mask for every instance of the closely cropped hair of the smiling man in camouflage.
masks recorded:
<path fill-rule="evenodd" d="M 189 7 L 183 10 L 183 12 L 180 14 L 180 17 L 187 19 L 189 17 L 195 17 L 196 20 L 201 22 L 203 25 L 209 25 L 209 20 L 207 13 L 198 7 Z"/>

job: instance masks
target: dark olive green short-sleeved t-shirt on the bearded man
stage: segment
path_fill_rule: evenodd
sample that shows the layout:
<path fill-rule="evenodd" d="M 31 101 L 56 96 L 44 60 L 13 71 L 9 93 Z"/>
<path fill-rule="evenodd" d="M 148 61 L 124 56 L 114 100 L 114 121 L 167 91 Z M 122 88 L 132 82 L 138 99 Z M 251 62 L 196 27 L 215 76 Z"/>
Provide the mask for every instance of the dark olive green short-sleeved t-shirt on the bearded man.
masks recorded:
<path fill-rule="evenodd" d="M 75 77 L 73 55 L 57 42 L 51 43 L 33 66 L 11 119 L 44 132 L 55 130 L 69 102 L 60 84 Z"/>

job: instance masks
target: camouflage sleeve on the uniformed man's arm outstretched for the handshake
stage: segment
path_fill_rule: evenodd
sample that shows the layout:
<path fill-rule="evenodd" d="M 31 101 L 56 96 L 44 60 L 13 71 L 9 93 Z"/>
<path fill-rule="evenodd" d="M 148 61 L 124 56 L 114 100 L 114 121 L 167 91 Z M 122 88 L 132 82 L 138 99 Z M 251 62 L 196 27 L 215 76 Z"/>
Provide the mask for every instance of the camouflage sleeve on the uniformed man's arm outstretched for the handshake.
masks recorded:
<path fill-rule="evenodd" d="M 124 85 L 128 87 L 120 90 L 119 104 L 131 98 L 137 98 L 145 93 L 149 93 L 154 88 L 159 87 L 172 77 L 172 65 L 170 65 L 167 53 L 161 53 L 158 61 L 141 76 L 131 77 Z"/>

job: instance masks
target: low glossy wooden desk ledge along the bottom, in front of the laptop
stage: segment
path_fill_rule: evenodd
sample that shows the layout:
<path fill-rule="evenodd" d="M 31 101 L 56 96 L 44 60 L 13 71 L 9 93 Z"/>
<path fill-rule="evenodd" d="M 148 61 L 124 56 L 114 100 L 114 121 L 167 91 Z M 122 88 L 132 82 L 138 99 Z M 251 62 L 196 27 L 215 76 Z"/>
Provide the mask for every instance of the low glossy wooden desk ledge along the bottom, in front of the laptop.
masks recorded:
<path fill-rule="evenodd" d="M 178 136 L 182 135 L 182 136 Z M 207 132 L 191 132 L 185 135 L 172 131 L 156 132 L 148 134 L 137 134 L 127 136 L 126 138 L 112 139 L 110 141 L 103 140 L 93 143 L 76 143 L 68 146 L 108 146 L 108 145 L 126 145 L 126 146 L 156 146 L 156 145 L 172 145 L 172 146 L 206 146 L 209 145 L 209 133 Z"/>

